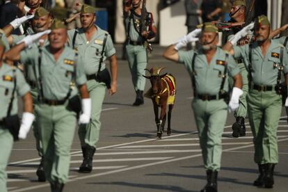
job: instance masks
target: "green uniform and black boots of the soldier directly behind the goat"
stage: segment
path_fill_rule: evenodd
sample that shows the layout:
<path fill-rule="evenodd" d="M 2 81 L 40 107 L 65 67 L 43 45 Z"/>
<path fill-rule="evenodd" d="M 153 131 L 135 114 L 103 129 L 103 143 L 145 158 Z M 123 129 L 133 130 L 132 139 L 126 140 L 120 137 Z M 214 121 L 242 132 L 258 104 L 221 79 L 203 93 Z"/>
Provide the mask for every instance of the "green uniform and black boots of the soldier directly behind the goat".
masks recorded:
<path fill-rule="evenodd" d="M 152 13 L 147 14 L 145 19 L 147 26 L 152 26 Z M 145 88 L 145 68 L 147 67 L 147 49 L 144 45 L 145 39 L 141 35 L 141 15 L 131 9 L 129 15 L 125 15 L 125 27 L 127 31 L 126 52 L 132 83 L 136 91 L 136 102 L 134 106 L 143 104 L 143 90 Z"/>

